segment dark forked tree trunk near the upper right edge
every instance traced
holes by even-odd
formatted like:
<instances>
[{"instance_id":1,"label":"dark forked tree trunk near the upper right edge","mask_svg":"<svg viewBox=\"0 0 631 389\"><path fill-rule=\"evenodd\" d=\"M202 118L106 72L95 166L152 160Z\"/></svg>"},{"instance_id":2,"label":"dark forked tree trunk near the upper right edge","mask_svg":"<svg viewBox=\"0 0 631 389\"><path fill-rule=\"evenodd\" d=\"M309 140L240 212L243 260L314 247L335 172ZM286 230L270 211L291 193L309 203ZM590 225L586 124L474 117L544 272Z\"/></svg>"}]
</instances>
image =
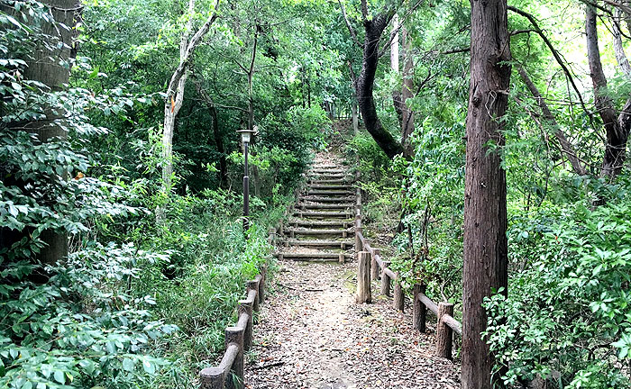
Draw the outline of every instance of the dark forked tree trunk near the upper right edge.
<instances>
[{"instance_id":1,"label":"dark forked tree trunk near the upper right edge","mask_svg":"<svg viewBox=\"0 0 631 389\"><path fill-rule=\"evenodd\" d=\"M607 78L600 62L599 37L596 28L596 11L586 5L585 32L587 36L587 57L590 63L591 83L594 89L594 104L602 119L607 135L605 156L602 160L600 176L613 180L622 170L626 158L626 140L629 135L631 119L629 113L623 110L617 113L613 101L607 93ZM627 101L625 109L631 104Z\"/></svg>"}]
</instances>

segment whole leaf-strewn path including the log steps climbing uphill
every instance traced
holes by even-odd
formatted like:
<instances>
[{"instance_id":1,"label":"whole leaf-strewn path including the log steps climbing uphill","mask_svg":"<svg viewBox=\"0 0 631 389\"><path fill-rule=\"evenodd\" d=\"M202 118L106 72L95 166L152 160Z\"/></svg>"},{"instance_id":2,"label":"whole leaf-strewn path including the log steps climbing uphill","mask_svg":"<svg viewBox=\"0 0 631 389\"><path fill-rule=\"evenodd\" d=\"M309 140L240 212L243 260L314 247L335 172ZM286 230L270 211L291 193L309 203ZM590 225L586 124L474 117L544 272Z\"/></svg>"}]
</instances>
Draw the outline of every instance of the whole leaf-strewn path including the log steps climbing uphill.
<instances>
[{"instance_id":1,"label":"whole leaf-strewn path including the log steps climbing uphill","mask_svg":"<svg viewBox=\"0 0 631 389\"><path fill-rule=\"evenodd\" d=\"M343 177L315 173L328 169L344 171L339 173ZM298 199L296 218L289 221L294 226L284 231L289 236L281 237L279 271L254 326L246 387L460 388L458 366L434 357L434 337L412 329L410 307L408 313L392 309L389 298L379 294L379 285L372 287L373 303L355 303L352 220L350 225L344 222L346 204L352 206L354 197L349 197L352 184L346 169L332 153L315 158L315 177ZM341 185L340 180L346 181ZM348 187L313 195L313 185L323 184ZM317 209L322 204L328 208Z\"/></svg>"}]
</instances>

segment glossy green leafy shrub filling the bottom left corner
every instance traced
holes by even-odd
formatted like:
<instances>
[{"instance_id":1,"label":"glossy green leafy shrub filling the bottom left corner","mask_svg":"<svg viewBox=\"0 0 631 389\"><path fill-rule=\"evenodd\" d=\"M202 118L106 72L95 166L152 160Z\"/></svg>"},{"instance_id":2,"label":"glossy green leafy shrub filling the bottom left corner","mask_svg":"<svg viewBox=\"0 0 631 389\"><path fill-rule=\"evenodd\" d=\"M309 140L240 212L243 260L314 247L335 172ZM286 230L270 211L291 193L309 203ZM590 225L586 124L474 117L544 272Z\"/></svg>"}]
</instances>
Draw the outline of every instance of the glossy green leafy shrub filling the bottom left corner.
<instances>
[{"instance_id":1,"label":"glossy green leafy shrub filling the bottom left corner","mask_svg":"<svg viewBox=\"0 0 631 389\"><path fill-rule=\"evenodd\" d=\"M0 295L0 384L24 387L136 387L151 384L166 360L148 352L177 327L155 319L149 296L126 287L140 267L168 261L132 245L99 244L45 270L43 285L5 267ZM16 281L19 280L19 281Z\"/></svg>"}]
</instances>

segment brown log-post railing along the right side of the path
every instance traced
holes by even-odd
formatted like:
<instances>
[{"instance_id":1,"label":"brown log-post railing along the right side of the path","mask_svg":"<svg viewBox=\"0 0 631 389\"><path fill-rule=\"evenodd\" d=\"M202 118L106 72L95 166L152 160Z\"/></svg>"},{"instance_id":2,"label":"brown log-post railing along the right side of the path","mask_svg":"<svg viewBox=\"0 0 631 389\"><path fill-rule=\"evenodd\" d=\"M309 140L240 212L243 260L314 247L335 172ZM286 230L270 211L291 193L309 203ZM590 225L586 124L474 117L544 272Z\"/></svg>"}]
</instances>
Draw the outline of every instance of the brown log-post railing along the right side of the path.
<instances>
[{"instance_id":1,"label":"brown log-post railing along the right side of the path","mask_svg":"<svg viewBox=\"0 0 631 389\"><path fill-rule=\"evenodd\" d=\"M359 183L359 172L356 174ZM390 296L390 286L394 284L393 307L401 312L405 306L405 293L398 273L389 268L390 262L381 258L380 249L370 246L361 232L361 188L356 189L355 204L355 252L358 259L358 303L370 302L370 280L381 280L381 294ZM368 276L370 273L370 276ZM434 313L436 321L436 355L452 358L453 332L462 337L462 324L453 318L453 303L434 303L425 295L425 285L416 284L412 294L413 327L425 332L427 310Z\"/></svg>"}]
</instances>

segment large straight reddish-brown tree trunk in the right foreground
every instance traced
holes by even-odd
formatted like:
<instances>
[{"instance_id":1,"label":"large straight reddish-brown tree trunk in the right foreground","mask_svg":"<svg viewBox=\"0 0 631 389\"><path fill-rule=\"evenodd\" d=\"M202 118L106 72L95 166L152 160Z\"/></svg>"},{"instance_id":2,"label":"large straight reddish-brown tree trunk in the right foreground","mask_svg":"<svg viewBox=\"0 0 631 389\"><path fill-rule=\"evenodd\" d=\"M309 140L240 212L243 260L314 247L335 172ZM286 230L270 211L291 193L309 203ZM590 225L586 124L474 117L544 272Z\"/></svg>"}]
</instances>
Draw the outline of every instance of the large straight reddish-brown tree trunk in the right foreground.
<instances>
[{"instance_id":1,"label":"large straight reddish-brown tree trunk in the right foreground","mask_svg":"<svg viewBox=\"0 0 631 389\"><path fill-rule=\"evenodd\" d=\"M471 85L466 130L462 388L491 389L493 357L481 338L492 290L508 286L506 172L493 143L504 146L510 47L506 0L471 2Z\"/></svg>"}]
</instances>

